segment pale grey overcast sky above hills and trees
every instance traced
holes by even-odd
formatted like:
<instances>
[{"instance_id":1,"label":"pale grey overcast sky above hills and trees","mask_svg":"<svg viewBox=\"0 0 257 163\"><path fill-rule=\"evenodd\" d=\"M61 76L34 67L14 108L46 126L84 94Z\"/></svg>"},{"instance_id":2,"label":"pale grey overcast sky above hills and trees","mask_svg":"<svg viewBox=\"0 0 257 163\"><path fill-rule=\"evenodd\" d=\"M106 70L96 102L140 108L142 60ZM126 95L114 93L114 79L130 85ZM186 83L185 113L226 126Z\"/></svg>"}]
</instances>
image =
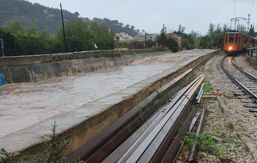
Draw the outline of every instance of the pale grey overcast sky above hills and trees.
<instances>
[{"instance_id":1,"label":"pale grey overcast sky above hills and trees","mask_svg":"<svg viewBox=\"0 0 257 163\"><path fill-rule=\"evenodd\" d=\"M148 33L160 32L163 23L172 26L182 24L186 32L198 30L205 34L212 23L225 23L230 25L230 19L235 17L233 0L29 0L45 6L62 7L72 13L79 12L81 17L108 18L135 26L140 31ZM257 27L257 0L235 0L236 17L248 18L251 11L250 23ZM60 7L58 7L60 8ZM241 20L241 23L245 21ZM246 23L245 23L246 24ZM177 30L177 27L167 26ZM247 26L247 24L246 24ZM257 31L257 28L255 28Z\"/></svg>"}]
</instances>

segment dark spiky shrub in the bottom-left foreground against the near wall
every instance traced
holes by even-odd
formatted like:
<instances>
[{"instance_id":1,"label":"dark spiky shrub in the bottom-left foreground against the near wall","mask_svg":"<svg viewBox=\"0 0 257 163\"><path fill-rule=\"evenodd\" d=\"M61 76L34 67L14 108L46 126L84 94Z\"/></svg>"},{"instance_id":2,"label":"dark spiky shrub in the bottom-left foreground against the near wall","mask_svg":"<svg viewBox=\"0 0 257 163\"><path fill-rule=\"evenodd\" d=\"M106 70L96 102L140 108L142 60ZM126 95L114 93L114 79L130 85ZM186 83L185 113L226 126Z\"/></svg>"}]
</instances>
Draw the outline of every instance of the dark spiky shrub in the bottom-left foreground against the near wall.
<instances>
[{"instance_id":1,"label":"dark spiky shrub in the bottom-left foreground against the near wall","mask_svg":"<svg viewBox=\"0 0 257 163\"><path fill-rule=\"evenodd\" d=\"M42 153L37 153L36 155L23 155L19 161L14 161L14 157L11 152L7 152L5 148L0 148L0 162L1 163L62 163L65 158L60 156L63 150L67 149L70 145L71 139L59 141L57 140L56 133L56 121L52 125L52 136L51 141L48 142L47 148ZM60 142L60 143L58 143ZM58 145L57 145L58 143ZM77 161L77 163L86 163L84 161Z\"/></svg>"}]
</instances>

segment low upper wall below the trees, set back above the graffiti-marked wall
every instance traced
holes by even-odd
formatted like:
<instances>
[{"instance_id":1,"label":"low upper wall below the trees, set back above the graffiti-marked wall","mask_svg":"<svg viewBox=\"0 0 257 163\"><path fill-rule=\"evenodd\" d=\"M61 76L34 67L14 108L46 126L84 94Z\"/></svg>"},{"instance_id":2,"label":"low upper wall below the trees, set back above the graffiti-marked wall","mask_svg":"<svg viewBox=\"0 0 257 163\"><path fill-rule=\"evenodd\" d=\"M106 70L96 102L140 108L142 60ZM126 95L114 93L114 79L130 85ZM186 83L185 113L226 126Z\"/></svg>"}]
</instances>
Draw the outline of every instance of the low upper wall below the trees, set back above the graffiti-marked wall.
<instances>
[{"instance_id":1,"label":"low upper wall below the trees, set back above the graffiti-marked wall","mask_svg":"<svg viewBox=\"0 0 257 163\"><path fill-rule=\"evenodd\" d=\"M29 55L29 56L14 56L14 57L0 57L1 67L22 66L39 63L51 63L67 60L78 60L87 58L99 58L101 55L127 55L127 53L133 52L135 54L152 53L157 52L157 49L135 49L135 50L96 50L96 51L84 51L74 53L59 53L59 54L45 54L45 55Z\"/></svg>"}]
</instances>

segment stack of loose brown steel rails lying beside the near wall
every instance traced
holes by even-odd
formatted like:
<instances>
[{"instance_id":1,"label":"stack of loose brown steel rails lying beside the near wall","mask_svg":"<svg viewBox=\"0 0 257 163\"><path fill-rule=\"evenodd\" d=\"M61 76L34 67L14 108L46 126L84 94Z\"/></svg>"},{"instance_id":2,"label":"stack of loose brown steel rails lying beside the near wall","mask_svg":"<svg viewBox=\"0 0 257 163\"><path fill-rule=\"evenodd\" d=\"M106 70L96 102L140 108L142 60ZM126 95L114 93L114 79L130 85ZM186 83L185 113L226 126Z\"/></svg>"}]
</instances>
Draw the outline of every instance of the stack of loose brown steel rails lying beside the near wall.
<instances>
[{"instance_id":1,"label":"stack of loose brown steel rails lying beside the near wall","mask_svg":"<svg viewBox=\"0 0 257 163\"><path fill-rule=\"evenodd\" d=\"M202 91L203 79L204 75L200 75L169 91L180 79L171 81L173 84L163 92L157 90L159 95L146 105L149 107L136 112L112 133L103 131L64 162L76 162L78 157L89 163L174 162L185 132L195 123L196 133L203 131L207 110L194 107L196 98L200 98L197 95ZM189 162L196 159L195 146L190 150Z\"/></svg>"}]
</instances>

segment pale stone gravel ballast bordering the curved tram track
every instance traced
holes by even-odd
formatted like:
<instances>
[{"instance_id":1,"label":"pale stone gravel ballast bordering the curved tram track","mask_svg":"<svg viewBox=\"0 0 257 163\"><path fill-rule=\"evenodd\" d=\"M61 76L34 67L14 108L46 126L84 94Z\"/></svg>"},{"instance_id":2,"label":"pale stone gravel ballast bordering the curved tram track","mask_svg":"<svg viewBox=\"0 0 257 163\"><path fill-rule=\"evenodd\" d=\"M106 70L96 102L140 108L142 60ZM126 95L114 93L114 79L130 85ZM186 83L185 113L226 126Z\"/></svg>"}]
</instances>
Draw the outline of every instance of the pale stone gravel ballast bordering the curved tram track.
<instances>
[{"instance_id":1,"label":"pale stone gravel ballast bordering the curved tram track","mask_svg":"<svg viewBox=\"0 0 257 163\"><path fill-rule=\"evenodd\" d=\"M256 162L256 117L243 106L242 99L233 96L232 90L237 86L221 69L224 57L224 54L214 56L194 74L204 74L205 81L212 85L209 92L217 97L203 99L202 107L208 109L204 131L212 136L219 150L207 148L199 153L198 159L199 162ZM234 61L252 75L257 74L244 55L235 57ZM180 155L178 162L183 162L183 158Z\"/></svg>"}]
</instances>

